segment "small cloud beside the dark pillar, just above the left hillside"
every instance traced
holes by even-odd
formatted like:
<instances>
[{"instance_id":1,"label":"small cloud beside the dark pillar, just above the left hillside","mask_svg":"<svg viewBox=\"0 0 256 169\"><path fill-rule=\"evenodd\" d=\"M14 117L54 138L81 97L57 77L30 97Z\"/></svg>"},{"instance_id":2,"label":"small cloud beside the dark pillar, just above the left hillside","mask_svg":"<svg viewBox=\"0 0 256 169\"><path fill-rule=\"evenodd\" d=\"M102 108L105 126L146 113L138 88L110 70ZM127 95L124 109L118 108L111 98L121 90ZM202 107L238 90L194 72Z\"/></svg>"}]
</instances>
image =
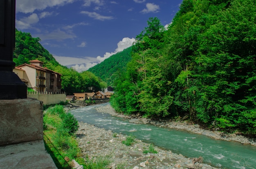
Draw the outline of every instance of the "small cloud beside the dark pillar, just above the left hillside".
<instances>
[{"instance_id":1,"label":"small cloud beside the dark pillar, just above the left hillside","mask_svg":"<svg viewBox=\"0 0 256 169\"><path fill-rule=\"evenodd\" d=\"M32 13L28 17L21 18L16 20L16 28L18 29L28 29L31 28L32 24L35 24L39 21L39 18L36 13Z\"/></svg>"}]
</instances>

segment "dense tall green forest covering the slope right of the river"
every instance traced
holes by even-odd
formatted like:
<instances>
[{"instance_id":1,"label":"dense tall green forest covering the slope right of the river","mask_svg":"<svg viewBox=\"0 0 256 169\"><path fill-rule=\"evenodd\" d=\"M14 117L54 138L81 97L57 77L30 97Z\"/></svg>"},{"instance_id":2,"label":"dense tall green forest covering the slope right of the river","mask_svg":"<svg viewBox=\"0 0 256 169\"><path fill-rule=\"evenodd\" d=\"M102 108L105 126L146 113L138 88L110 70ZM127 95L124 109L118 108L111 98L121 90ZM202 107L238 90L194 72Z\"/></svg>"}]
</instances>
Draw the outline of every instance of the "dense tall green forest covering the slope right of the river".
<instances>
[{"instance_id":1,"label":"dense tall green forest covering the slope right of the river","mask_svg":"<svg viewBox=\"0 0 256 169\"><path fill-rule=\"evenodd\" d=\"M149 18L112 106L256 134L255 13L255 0L183 0L168 29Z\"/></svg>"}]
</instances>

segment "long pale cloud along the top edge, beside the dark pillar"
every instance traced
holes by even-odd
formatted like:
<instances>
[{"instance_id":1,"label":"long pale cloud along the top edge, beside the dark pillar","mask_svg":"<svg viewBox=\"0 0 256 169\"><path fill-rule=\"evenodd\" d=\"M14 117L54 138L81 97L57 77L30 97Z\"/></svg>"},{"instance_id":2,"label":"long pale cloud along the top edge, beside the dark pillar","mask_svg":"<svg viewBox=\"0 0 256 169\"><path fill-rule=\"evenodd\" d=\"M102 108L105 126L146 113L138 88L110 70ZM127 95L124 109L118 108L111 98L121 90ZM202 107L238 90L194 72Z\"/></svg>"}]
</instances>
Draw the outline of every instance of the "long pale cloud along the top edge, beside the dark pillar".
<instances>
[{"instance_id":1,"label":"long pale cloud along the top edge, beside the dark pillar","mask_svg":"<svg viewBox=\"0 0 256 169\"><path fill-rule=\"evenodd\" d=\"M17 0L16 13L32 13L35 10L43 10L47 7L63 6L75 0Z\"/></svg>"}]
</instances>

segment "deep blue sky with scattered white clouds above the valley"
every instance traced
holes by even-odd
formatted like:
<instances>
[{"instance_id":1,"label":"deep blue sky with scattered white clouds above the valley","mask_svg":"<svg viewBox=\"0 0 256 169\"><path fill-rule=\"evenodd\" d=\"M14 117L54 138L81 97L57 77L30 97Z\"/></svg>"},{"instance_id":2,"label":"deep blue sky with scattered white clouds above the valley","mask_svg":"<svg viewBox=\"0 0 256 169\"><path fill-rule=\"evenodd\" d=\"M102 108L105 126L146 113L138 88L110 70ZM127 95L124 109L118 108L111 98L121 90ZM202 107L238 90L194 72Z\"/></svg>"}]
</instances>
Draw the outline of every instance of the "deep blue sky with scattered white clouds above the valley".
<instances>
[{"instance_id":1,"label":"deep blue sky with scattered white clouds above the valley","mask_svg":"<svg viewBox=\"0 0 256 169\"><path fill-rule=\"evenodd\" d=\"M85 71L132 45L150 17L170 24L182 0L16 0L16 28Z\"/></svg>"}]
</instances>

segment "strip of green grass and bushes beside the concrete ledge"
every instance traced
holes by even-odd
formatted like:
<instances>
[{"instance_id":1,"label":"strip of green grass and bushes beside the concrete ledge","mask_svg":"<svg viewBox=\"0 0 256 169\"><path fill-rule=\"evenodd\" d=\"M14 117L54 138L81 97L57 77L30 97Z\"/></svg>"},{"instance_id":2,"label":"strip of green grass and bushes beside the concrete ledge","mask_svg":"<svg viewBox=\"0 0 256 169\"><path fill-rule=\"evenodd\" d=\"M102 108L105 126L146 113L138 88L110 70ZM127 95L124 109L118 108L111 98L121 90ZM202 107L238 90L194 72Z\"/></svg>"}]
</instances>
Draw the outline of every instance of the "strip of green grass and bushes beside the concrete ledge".
<instances>
[{"instance_id":1,"label":"strip of green grass and bushes beside the concrete ledge","mask_svg":"<svg viewBox=\"0 0 256 169\"><path fill-rule=\"evenodd\" d=\"M65 113L62 105L49 107L44 113L45 147L58 168L71 168L64 160L66 156L75 160L81 157L81 150L72 134L72 129L77 130L78 127L75 125L77 121L74 120L70 113Z\"/></svg>"}]
</instances>

